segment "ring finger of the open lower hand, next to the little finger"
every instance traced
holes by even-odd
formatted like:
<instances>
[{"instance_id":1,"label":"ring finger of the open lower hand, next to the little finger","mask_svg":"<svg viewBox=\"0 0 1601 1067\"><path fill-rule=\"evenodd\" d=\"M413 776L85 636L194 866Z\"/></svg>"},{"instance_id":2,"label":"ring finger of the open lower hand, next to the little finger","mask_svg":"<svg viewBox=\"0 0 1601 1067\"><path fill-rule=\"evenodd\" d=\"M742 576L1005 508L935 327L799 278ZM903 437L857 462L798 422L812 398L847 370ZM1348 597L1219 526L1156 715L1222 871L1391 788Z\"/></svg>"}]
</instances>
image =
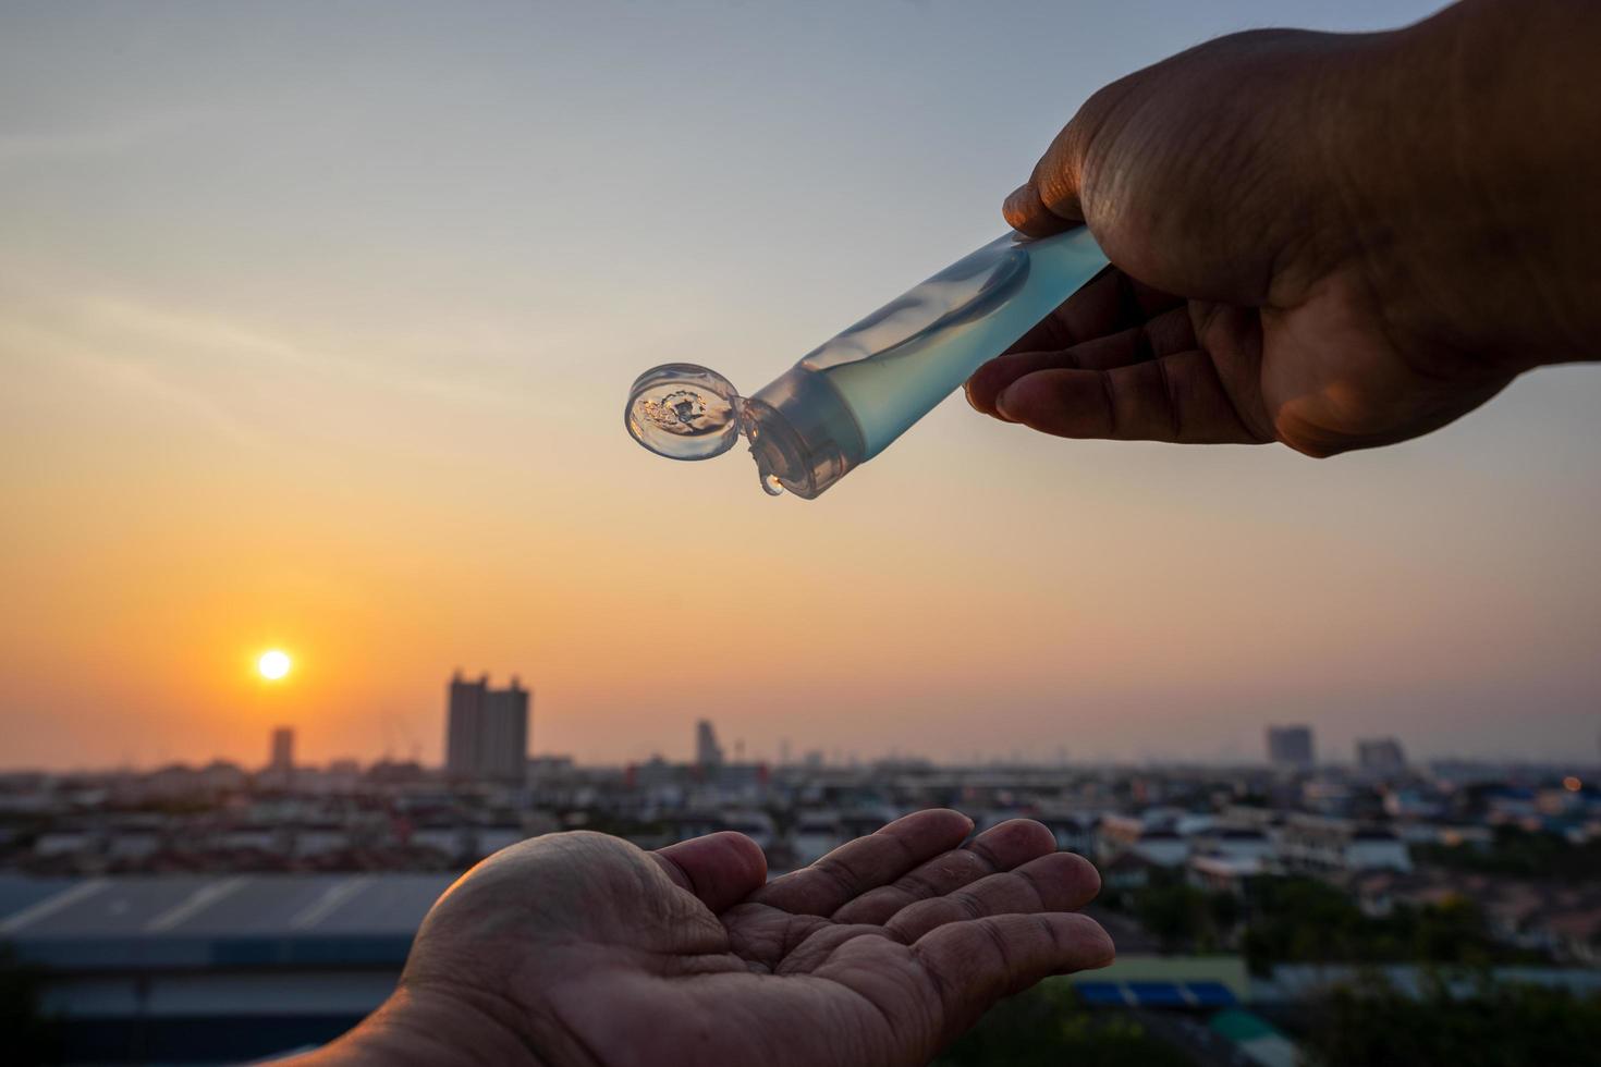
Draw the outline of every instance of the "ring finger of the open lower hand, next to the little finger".
<instances>
[{"instance_id":1,"label":"ring finger of the open lower hand, next to the little finger","mask_svg":"<svg viewBox=\"0 0 1601 1067\"><path fill-rule=\"evenodd\" d=\"M1100 875L1090 861L1073 853L1052 853L945 896L919 901L884 926L898 939L913 942L938 926L969 918L1076 912L1098 891Z\"/></svg>"}]
</instances>

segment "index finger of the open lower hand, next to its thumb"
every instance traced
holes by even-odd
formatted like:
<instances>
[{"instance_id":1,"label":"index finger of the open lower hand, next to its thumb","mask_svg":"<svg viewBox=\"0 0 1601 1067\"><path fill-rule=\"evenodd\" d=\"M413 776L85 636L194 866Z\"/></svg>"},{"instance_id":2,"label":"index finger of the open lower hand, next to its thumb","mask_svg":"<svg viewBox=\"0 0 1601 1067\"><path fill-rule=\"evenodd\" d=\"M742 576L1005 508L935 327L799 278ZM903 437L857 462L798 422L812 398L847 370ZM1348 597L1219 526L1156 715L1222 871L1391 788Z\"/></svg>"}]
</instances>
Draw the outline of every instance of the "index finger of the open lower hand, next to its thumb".
<instances>
[{"instance_id":1,"label":"index finger of the open lower hand, next to its thumb","mask_svg":"<svg viewBox=\"0 0 1601 1067\"><path fill-rule=\"evenodd\" d=\"M956 848L972 829L973 821L959 811L917 811L841 845L810 867L775 878L752 899L796 915L833 915L847 901Z\"/></svg>"}]
</instances>

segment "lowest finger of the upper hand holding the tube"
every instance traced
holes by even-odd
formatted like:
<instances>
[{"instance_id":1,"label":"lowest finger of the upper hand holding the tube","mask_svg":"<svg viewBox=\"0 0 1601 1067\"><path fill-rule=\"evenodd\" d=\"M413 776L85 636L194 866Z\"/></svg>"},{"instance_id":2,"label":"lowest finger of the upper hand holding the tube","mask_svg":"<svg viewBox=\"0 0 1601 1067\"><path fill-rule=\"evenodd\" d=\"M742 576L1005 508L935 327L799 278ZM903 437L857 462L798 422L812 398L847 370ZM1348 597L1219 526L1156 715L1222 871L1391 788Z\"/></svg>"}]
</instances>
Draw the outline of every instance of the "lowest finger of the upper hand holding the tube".
<instances>
[{"instance_id":1,"label":"lowest finger of the upper hand holding the tube","mask_svg":"<svg viewBox=\"0 0 1601 1067\"><path fill-rule=\"evenodd\" d=\"M1044 370L994 398L996 413L1057 437L1254 445L1212 358L1198 349L1111 370Z\"/></svg>"}]
</instances>

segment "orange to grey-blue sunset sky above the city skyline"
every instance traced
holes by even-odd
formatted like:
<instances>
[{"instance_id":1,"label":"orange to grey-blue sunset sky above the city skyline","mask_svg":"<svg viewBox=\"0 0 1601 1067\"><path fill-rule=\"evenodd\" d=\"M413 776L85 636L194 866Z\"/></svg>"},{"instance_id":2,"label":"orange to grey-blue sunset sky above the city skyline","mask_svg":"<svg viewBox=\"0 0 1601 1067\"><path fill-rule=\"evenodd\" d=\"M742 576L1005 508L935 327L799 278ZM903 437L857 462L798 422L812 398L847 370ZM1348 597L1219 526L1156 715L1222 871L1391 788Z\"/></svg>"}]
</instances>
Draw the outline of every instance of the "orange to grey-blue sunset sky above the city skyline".
<instances>
[{"instance_id":1,"label":"orange to grey-blue sunset sky above the city skyline","mask_svg":"<svg viewBox=\"0 0 1601 1067\"><path fill-rule=\"evenodd\" d=\"M1601 368L1324 462L953 398L813 502L623 430L997 235L1101 83L1433 6L6 5L0 765L432 761L456 667L581 760L1595 760Z\"/></svg>"}]
</instances>

